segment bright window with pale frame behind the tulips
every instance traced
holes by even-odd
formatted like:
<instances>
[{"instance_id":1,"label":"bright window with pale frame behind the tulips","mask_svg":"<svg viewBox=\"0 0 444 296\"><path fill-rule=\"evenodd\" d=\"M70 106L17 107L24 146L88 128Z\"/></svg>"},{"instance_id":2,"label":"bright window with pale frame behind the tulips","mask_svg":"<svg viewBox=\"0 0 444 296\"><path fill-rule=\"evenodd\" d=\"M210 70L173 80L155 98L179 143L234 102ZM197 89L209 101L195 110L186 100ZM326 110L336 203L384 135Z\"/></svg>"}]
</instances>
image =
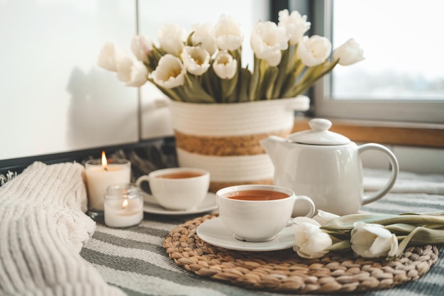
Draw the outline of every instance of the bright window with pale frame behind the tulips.
<instances>
[{"instance_id":1,"label":"bright window with pale frame behind the tulips","mask_svg":"<svg viewBox=\"0 0 444 296\"><path fill-rule=\"evenodd\" d=\"M316 84L315 115L444 123L440 1L315 1L311 34L333 48L355 38L366 60L335 67Z\"/></svg>"}]
</instances>

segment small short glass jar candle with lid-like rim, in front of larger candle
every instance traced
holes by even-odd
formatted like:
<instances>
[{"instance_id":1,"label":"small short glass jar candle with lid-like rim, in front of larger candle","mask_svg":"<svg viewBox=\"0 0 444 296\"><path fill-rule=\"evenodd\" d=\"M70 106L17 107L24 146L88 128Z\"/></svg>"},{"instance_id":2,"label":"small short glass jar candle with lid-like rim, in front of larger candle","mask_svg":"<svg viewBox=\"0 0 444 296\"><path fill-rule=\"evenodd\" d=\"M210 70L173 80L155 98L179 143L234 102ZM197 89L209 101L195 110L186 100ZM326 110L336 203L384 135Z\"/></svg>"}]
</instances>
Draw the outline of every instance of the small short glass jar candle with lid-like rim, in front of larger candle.
<instances>
[{"instance_id":1,"label":"small short glass jar candle with lid-like rim, in front of larger candle","mask_svg":"<svg viewBox=\"0 0 444 296\"><path fill-rule=\"evenodd\" d=\"M134 226L143 219L143 197L133 183L110 185L104 199L106 226L122 228Z\"/></svg>"}]
</instances>

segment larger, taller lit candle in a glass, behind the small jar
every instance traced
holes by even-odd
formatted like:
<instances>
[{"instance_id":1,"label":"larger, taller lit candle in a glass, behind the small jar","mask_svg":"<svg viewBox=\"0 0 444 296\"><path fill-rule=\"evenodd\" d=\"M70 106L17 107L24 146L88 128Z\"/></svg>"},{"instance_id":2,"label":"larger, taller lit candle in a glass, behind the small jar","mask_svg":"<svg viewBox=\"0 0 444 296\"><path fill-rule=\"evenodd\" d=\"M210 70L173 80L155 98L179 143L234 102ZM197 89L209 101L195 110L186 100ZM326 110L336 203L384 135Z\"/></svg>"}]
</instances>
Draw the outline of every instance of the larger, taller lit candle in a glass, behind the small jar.
<instances>
[{"instance_id":1,"label":"larger, taller lit candle in a glass, behind the small jar","mask_svg":"<svg viewBox=\"0 0 444 296\"><path fill-rule=\"evenodd\" d=\"M89 212L103 212L106 188L112 184L130 182L131 163L126 159L107 160L105 151L102 151L101 160L87 160L85 175Z\"/></svg>"}]
</instances>

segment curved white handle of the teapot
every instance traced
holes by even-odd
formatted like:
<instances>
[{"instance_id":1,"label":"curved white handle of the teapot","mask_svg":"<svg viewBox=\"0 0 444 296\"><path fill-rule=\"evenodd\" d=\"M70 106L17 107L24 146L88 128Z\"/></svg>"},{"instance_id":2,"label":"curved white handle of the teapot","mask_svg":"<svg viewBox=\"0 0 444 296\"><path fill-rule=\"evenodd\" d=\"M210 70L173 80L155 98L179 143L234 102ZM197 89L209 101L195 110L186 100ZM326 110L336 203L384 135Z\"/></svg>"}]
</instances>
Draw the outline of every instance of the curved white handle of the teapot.
<instances>
[{"instance_id":1,"label":"curved white handle of the teapot","mask_svg":"<svg viewBox=\"0 0 444 296\"><path fill-rule=\"evenodd\" d=\"M361 154L362 152L364 152L366 150L379 150L379 151L387 154L387 156L390 160L390 164L392 165L392 176L390 177L387 184L384 185L384 187L382 187L380 190L365 196L362 201L362 204L370 204L370 202L377 201L378 199L383 197L385 194L387 194L392 189L394 182L396 182L396 177L398 177L398 172L399 172L398 160L396 160L395 155L392 153L391 150L389 150L389 148L379 145L379 144L376 144L376 143L367 143L367 144L364 144L364 145L359 146L357 148L357 151L359 154Z\"/></svg>"}]
</instances>

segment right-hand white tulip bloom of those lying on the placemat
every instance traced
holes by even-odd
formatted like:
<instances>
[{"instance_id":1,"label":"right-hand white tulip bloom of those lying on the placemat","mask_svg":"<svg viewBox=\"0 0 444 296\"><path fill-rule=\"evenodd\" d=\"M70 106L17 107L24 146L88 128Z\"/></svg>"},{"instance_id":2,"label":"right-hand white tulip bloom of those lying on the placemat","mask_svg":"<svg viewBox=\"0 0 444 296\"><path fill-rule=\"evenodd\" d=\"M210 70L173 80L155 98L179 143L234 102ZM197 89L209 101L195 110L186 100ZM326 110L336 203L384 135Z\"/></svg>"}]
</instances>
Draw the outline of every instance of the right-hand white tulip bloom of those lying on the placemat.
<instances>
[{"instance_id":1,"label":"right-hand white tulip bloom of those lying on the placemat","mask_svg":"<svg viewBox=\"0 0 444 296\"><path fill-rule=\"evenodd\" d=\"M398 251L398 239L395 234L380 224L353 224L350 242L353 251L364 258L395 256Z\"/></svg>"}]
</instances>

